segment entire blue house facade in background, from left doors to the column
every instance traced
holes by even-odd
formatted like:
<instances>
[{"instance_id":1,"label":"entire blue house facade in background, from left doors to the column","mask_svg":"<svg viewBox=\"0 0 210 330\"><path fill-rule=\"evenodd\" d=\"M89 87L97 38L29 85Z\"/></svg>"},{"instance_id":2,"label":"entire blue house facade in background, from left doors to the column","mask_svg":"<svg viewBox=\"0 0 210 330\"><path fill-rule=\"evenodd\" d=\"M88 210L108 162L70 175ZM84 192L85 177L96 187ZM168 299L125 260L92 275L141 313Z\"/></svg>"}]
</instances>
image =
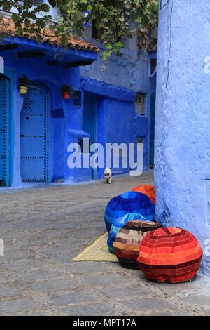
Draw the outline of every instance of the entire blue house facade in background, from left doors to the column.
<instances>
[{"instance_id":1,"label":"entire blue house facade in background, from left doors to the column","mask_svg":"<svg viewBox=\"0 0 210 330\"><path fill-rule=\"evenodd\" d=\"M87 137L83 128L83 98L84 93L90 93L97 101L96 136L102 143L135 143L137 136L144 136L144 169L148 169L149 146L149 110L151 94L155 90L155 76L150 76L150 58L156 53L142 53L137 58L137 45L130 51L124 49L123 58L113 56L105 72L102 72L102 54L92 65L73 67L66 70L66 62L90 58L95 60L96 53L90 51L56 50L52 46L39 45L36 41L15 38L20 46L13 51L1 51L5 67L13 74L13 169L11 185L22 185L20 174L20 112L23 96L18 89L18 77L26 74L36 83L45 84L50 90L50 176L49 181L64 179L66 182L90 180L91 169L69 169L67 160L70 143L77 143L78 138ZM10 42L10 41L8 41ZM132 41L134 42L134 41ZM95 41L97 43L97 41ZM98 43L99 44L99 43ZM43 58L19 58L18 52L29 49L45 51ZM54 56L57 66L49 66L46 60ZM27 65L26 65L27 62ZM60 95L63 84L72 84L73 89L82 91L82 105L73 106L73 100L64 100ZM135 113L135 93L146 93L146 113L139 116ZM55 112L54 112L55 110ZM62 115L54 115L61 110ZM105 154L104 154L105 159ZM104 161L105 168L105 161ZM130 171L130 167L113 169L113 173ZM104 169L94 171L94 178L102 178Z\"/></svg>"}]
</instances>

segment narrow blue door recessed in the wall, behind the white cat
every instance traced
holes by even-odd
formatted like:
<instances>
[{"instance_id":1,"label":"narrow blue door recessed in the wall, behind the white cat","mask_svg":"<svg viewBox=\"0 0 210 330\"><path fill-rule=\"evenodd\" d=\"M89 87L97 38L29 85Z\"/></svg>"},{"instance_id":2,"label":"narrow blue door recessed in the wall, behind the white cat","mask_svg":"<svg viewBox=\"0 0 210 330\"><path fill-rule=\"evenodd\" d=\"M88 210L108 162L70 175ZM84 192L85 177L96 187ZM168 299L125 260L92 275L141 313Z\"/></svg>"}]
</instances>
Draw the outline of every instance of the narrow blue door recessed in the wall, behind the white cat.
<instances>
[{"instance_id":1,"label":"narrow blue door recessed in the wall, behind the white cat","mask_svg":"<svg viewBox=\"0 0 210 330\"><path fill-rule=\"evenodd\" d=\"M94 95L84 95L83 107L83 131L90 134L90 145L96 142L96 98ZM90 154L92 156L92 154ZM92 179L96 176L96 171L92 169Z\"/></svg>"}]
</instances>

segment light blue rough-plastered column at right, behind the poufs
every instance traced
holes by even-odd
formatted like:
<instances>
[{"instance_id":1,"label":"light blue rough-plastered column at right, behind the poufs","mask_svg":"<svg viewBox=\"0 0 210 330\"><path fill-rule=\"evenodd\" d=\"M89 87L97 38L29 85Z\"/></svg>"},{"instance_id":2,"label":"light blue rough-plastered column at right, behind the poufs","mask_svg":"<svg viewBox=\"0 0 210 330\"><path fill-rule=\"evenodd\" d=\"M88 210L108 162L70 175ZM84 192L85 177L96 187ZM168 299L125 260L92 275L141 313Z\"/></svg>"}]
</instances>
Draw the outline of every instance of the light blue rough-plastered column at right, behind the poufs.
<instances>
[{"instance_id":1,"label":"light blue rough-plastered column at right, behind the poufs","mask_svg":"<svg viewBox=\"0 0 210 330\"><path fill-rule=\"evenodd\" d=\"M156 216L197 237L210 272L210 3L168 2L158 33Z\"/></svg>"}]
</instances>

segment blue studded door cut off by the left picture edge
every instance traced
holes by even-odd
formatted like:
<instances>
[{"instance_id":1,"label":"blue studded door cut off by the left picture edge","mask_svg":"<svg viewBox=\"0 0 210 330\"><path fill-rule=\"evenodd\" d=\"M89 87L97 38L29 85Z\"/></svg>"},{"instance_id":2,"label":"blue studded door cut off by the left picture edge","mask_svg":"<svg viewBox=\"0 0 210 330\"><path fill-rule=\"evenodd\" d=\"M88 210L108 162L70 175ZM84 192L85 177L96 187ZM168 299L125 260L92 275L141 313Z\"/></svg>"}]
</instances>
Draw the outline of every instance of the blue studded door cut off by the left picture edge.
<instances>
[{"instance_id":1,"label":"blue studded door cut off by the left picture edge","mask_svg":"<svg viewBox=\"0 0 210 330\"><path fill-rule=\"evenodd\" d=\"M10 185L10 79L0 75L0 186Z\"/></svg>"}]
</instances>

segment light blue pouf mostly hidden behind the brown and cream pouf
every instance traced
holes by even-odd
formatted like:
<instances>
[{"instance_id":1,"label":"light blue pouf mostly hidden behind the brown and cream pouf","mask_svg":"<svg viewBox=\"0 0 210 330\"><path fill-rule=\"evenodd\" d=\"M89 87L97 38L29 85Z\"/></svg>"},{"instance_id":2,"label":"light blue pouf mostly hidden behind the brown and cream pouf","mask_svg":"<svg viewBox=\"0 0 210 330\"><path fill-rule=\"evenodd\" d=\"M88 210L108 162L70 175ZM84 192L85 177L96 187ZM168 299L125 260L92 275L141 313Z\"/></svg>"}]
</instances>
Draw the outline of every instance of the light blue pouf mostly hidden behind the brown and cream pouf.
<instances>
[{"instance_id":1,"label":"light blue pouf mostly hidden behind the brown and cream pouf","mask_svg":"<svg viewBox=\"0 0 210 330\"><path fill-rule=\"evenodd\" d=\"M123 216L123 218L118 218L114 220L114 223L111 226L111 230L109 232L109 237L107 240L108 249L111 253L115 253L113 249L113 243L115 242L116 235L118 234L120 228L122 228L125 225L125 223L128 223L131 220L136 220L136 219L145 220L146 222L146 219L143 216L139 216L138 213L127 213L125 214L125 216Z\"/></svg>"}]
</instances>

